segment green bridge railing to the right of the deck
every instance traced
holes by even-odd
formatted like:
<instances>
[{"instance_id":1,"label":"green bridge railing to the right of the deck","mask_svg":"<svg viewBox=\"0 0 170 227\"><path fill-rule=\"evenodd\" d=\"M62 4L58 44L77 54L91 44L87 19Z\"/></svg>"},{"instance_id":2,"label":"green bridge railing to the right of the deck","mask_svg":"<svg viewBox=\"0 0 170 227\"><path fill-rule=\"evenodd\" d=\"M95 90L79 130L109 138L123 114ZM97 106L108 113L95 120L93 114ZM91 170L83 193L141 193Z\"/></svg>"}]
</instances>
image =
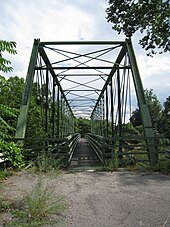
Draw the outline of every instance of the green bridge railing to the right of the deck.
<instances>
[{"instance_id":1,"label":"green bridge railing to the right of the deck","mask_svg":"<svg viewBox=\"0 0 170 227\"><path fill-rule=\"evenodd\" d=\"M132 162L150 163L150 152L148 152L149 149L144 136L106 138L88 133L86 138L102 164L114 158L124 164L131 164ZM170 158L170 138L155 137L154 145L158 160L165 161Z\"/></svg>"}]
</instances>

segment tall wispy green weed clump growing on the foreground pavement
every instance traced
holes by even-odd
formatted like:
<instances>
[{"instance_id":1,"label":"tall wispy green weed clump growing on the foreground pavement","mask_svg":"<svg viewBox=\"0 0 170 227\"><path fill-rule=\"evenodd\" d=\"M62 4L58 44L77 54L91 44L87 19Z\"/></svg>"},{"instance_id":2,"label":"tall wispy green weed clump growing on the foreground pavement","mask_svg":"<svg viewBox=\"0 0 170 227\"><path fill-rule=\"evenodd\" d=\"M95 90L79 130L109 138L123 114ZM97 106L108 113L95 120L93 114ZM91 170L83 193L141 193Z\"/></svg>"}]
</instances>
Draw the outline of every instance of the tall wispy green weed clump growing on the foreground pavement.
<instances>
[{"instance_id":1,"label":"tall wispy green weed clump growing on the foreground pavement","mask_svg":"<svg viewBox=\"0 0 170 227\"><path fill-rule=\"evenodd\" d=\"M66 200L58 196L53 189L44 185L41 179L33 189L13 209L14 221L8 226L57 226L61 222L61 213L67 209ZM51 226L50 225L50 226Z\"/></svg>"}]
</instances>

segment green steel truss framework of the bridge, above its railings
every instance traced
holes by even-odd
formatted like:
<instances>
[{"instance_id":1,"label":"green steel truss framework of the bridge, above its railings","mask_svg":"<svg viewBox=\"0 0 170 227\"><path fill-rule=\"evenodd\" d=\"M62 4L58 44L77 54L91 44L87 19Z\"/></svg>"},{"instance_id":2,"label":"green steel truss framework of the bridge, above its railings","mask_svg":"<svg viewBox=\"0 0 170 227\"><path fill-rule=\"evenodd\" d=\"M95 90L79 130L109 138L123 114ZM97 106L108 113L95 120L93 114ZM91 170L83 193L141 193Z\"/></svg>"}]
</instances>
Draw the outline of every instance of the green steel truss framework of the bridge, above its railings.
<instances>
[{"instance_id":1,"label":"green steel truss framework of the bridge, above its railings","mask_svg":"<svg viewBox=\"0 0 170 227\"><path fill-rule=\"evenodd\" d=\"M123 127L132 112L131 84L141 113L148 157L155 163L154 132L130 40L34 40L16 138L26 137L31 94L36 87L46 137L66 137L74 133L75 117L91 118L91 133L113 141L118 136L121 153Z\"/></svg>"}]
</instances>

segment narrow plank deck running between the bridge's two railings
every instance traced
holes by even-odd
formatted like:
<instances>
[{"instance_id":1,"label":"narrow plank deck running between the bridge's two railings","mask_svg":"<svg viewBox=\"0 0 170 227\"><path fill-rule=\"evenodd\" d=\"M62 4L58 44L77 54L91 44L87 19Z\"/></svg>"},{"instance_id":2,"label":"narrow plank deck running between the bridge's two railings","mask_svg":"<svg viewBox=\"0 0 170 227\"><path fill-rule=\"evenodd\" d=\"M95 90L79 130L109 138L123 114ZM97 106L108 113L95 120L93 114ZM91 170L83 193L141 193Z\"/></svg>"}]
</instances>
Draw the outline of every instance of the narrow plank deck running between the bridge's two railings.
<instances>
[{"instance_id":1,"label":"narrow plank deck running between the bridge's two railings","mask_svg":"<svg viewBox=\"0 0 170 227\"><path fill-rule=\"evenodd\" d=\"M70 167L89 167L97 166L100 162L88 144L87 139L81 138L74 151Z\"/></svg>"}]
</instances>

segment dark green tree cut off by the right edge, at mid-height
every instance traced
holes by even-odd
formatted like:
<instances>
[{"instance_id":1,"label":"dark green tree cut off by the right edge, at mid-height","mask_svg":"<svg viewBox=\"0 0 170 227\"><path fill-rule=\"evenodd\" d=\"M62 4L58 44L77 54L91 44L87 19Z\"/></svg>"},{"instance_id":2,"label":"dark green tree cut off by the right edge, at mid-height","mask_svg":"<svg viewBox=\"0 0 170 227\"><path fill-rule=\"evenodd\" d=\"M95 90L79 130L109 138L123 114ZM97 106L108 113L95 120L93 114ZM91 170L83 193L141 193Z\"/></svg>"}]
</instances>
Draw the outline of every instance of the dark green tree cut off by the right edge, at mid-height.
<instances>
[{"instance_id":1,"label":"dark green tree cut off by the right edge, at mid-height","mask_svg":"<svg viewBox=\"0 0 170 227\"><path fill-rule=\"evenodd\" d=\"M163 105L160 130L167 137L170 137L170 96L166 99Z\"/></svg>"}]
</instances>

